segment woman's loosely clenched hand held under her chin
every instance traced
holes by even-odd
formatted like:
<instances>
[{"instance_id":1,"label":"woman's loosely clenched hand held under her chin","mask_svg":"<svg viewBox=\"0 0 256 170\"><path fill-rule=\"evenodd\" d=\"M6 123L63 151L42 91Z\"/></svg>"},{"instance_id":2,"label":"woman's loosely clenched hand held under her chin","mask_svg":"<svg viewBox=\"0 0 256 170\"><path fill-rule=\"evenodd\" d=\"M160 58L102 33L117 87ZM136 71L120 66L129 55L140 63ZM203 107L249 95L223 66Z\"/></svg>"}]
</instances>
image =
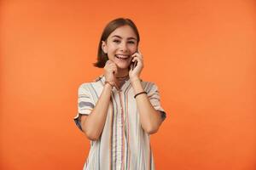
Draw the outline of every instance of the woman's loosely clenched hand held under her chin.
<instances>
[{"instance_id":1,"label":"woman's loosely clenched hand held under her chin","mask_svg":"<svg viewBox=\"0 0 256 170\"><path fill-rule=\"evenodd\" d=\"M111 83L116 83L115 75L117 74L117 66L113 63L112 60L108 59L104 66L104 70L105 80Z\"/></svg>"}]
</instances>

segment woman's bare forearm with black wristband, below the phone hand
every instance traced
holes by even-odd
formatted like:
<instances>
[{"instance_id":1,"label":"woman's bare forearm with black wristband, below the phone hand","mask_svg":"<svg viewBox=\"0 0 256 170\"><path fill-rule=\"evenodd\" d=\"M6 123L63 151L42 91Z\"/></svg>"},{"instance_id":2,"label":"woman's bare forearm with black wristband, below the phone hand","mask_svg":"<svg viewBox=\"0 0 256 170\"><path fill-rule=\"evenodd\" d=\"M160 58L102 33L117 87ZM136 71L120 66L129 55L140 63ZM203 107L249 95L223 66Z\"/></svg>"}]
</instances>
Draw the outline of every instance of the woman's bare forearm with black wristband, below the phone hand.
<instances>
[{"instance_id":1,"label":"woman's bare forearm with black wristband, below the phone hand","mask_svg":"<svg viewBox=\"0 0 256 170\"><path fill-rule=\"evenodd\" d=\"M134 89L134 94L144 91L140 79L132 80L131 84ZM147 94L137 95L136 101L143 129L149 134L156 133L163 122L160 111L156 111L154 109L153 105L151 105L148 99Z\"/></svg>"}]
</instances>

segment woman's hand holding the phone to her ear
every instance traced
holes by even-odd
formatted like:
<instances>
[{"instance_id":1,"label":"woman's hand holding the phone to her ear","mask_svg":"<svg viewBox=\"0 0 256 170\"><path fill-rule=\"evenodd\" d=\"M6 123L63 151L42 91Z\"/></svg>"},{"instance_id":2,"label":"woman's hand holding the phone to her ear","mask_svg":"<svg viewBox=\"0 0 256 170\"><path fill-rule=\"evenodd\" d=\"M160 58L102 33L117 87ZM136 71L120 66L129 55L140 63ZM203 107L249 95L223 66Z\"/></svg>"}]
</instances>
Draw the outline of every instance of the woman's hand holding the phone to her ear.
<instances>
[{"instance_id":1,"label":"woman's hand holding the phone to her ear","mask_svg":"<svg viewBox=\"0 0 256 170\"><path fill-rule=\"evenodd\" d=\"M130 65L129 77L132 80L136 80L140 78L140 74L143 71L143 55L138 50L137 53L131 55L131 62L137 61L136 67L132 70Z\"/></svg>"}]
</instances>

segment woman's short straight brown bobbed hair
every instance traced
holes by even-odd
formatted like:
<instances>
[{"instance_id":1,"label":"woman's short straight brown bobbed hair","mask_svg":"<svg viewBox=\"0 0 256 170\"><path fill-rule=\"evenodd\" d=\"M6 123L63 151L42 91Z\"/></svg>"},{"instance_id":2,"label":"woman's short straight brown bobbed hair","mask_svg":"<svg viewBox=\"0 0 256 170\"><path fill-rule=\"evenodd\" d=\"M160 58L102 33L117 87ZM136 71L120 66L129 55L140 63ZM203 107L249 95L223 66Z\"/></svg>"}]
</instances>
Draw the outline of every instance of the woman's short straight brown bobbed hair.
<instances>
[{"instance_id":1,"label":"woman's short straight brown bobbed hair","mask_svg":"<svg viewBox=\"0 0 256 170\"><path fill-rule=\"evenodd\" d=\"M137 35L137 45L140 42L140 36L137 31L137 26L135 26L134 22L130 19L125 18L118 18L115 20L112 20L108 23L108 25L104 28L102 32L102 37L99 42L98 46L98 54L97 54L97 61L93 65L99 68L103 68L108 60L108 54L105 54L102 50L102 41L106 41L108 39L108 36L117 28L120 26L131 26L132 30Z\"/></svg>"}]
</instances>

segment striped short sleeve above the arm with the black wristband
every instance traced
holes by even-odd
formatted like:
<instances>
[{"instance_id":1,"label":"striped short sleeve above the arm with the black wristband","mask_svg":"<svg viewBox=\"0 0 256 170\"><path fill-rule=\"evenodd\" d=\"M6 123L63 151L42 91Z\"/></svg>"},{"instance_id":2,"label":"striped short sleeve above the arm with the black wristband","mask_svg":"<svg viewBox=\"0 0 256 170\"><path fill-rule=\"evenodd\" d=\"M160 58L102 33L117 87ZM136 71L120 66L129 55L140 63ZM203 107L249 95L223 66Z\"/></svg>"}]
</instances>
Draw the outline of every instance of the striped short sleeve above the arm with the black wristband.
<instances>
[{"instance_id":1,"label":"striped short sleeve above the arm with the black wristband","mask_svg":"<svg viewBox=\"0 0 256 170\"><path fill-rule=\"evenodd\" d=\"M160 111L162 119L165 120L166 111L160 105L160 92L158 87L153 82L150 82L148 88L148 98L151 105L153 105L156 111Z\"/></svg>"}]
</instances>

